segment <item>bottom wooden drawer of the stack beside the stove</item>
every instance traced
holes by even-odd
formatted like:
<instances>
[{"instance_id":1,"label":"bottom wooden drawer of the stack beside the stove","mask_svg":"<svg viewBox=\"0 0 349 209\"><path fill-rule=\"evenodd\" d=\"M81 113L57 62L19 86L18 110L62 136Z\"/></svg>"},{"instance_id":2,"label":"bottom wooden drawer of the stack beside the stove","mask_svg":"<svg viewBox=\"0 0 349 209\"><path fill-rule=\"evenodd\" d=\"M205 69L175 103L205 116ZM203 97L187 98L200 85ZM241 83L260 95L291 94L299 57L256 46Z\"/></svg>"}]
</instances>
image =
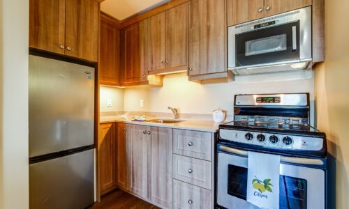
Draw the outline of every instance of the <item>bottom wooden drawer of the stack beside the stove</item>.
<instances>
[{"instance_id":1,"label":"bottom wooden drawer of the stack beside the stove","mask_svg":"<svg viewBox=\"0 0 349 209\"><path fill-rule=\"evenodd\" d=\"M173 180L173 208L211 208L211 191Z\"/></svg>"}]
</instances>

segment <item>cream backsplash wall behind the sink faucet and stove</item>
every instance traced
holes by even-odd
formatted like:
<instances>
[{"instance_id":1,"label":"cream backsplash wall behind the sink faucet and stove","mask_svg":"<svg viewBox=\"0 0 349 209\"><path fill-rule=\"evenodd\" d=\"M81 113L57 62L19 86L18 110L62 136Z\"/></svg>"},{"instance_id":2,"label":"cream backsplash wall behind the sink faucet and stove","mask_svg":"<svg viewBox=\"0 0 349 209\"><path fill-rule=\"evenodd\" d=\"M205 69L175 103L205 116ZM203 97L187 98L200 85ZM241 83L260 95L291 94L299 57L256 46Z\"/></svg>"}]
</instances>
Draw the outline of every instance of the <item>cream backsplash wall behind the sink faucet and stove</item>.
<instances>
[{"instance_id":1,"label":"cream backsplash wall behind the sink faucet and stove","mask_svg":"<svg viewBox=\"0 0 349 209\"><path fill-rule=\"evenodd\" d=\"M305 72L304 72L305 73ZM314 80L299 73L253 75L237 78L232 84L198 84L189 82L186 74L166 75L163 87L126 88L124 97L125 111L170 112L168 106L176 107L181 113L211 114L221 107L232 114L234 95L239 93L297 93L309 92L314 98ZM297 77L295 77L297 75ZM290 79L290 77L295 79ZM266 79L269 77L269 79ZM249 79L246 79L249 78ZM281 81L281 78L283 81ZM247 82L247 81L250 82ZM144 100L144 108L140 107Z\"/></svg>"}]
</instances>

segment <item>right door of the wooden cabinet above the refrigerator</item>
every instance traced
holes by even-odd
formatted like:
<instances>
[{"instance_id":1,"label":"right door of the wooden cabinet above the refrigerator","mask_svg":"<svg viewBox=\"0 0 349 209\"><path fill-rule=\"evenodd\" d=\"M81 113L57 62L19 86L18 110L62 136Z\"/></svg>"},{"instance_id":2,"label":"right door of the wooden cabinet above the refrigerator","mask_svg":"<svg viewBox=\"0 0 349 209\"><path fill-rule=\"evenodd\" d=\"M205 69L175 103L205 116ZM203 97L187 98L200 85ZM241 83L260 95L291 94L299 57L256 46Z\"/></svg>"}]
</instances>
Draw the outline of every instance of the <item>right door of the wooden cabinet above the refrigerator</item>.
<instances>
[{"instance_id":1,"label":"right door of the wooden cabinet above the refrigerator","mask_svg":"<svg viewBox=\"0 0 349 209\"><path fill-rule=\"evenodd\" d=\"M66 1L66 52L87 61L98 61L99 3Z\"/></svg>"}]
</instances>

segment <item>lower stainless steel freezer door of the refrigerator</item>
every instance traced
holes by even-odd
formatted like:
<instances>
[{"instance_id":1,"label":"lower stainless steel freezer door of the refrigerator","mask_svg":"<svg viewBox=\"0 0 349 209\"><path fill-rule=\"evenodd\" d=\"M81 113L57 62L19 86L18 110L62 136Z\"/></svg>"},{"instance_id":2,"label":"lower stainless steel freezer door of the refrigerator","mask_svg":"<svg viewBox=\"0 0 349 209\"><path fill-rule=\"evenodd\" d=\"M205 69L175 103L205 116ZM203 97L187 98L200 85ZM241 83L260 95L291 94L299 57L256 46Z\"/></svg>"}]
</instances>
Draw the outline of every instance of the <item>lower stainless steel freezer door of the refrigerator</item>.
<instances>
[{"instance_id":1,"label":"lower stainless steel freezer door of the refrigerator","mask_svg":"<svg viewBox=\"0 0 349 209\"><path fill-rule=\"evenodd\" d=\"M86 208L94 203L94 149L29 164L30 208Z\"/></svg>"}]
</instances>

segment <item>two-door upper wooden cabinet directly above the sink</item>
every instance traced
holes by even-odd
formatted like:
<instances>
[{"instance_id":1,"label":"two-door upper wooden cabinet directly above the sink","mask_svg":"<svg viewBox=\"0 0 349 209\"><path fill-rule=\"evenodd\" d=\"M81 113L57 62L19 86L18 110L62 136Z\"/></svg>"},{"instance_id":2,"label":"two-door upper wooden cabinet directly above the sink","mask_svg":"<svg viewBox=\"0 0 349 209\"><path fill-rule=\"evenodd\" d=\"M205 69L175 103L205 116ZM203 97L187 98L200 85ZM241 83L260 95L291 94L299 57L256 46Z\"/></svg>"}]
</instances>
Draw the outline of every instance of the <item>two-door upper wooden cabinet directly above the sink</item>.
<instances>
[{"instance_id":1,"label":"two-door upper wooden cabinet directly above the sink","mask_svg":"<svg viewBox=\"0 0 349 209\"><path fill-rule=\"evenodd\" d=\"M188 69L188 3L148 18L149 74Z\"/></svg>"}]
</instances>

